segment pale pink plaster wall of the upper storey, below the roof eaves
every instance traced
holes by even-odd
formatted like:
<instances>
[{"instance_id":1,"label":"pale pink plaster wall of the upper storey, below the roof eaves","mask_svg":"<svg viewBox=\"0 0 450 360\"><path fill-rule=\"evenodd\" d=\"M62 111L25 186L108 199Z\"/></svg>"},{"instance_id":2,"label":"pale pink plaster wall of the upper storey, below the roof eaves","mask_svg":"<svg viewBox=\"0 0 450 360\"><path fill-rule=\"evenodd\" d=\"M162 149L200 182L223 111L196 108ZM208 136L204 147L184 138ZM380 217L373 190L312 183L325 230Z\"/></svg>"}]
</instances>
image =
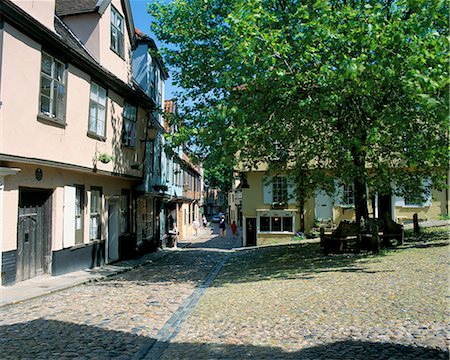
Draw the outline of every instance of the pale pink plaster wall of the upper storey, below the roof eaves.
<instances>
[{"instance_id":1,"label":"pale pink plaster wall of the upper storey, below the roof eaves","mask_svg":"<svg viewBox=\"0 0 450 360\"><path fill-rule=\"evenodd\" d=\"M124 99L108 92L106 141L87 136L91 78L69 64L67 71L66 126L58 127L38 121L40 86L40 45L5 24L2 59L2 132L0 152L39 158L92 168L96 154L105 152L116 159L109 164L97 162L99 170L140 176L129 164L142 159L143 146L121 147ZM146 122L139 111L138 131ZM137 153L138 154L137 154Z\"/></svg>"}]
</instances>

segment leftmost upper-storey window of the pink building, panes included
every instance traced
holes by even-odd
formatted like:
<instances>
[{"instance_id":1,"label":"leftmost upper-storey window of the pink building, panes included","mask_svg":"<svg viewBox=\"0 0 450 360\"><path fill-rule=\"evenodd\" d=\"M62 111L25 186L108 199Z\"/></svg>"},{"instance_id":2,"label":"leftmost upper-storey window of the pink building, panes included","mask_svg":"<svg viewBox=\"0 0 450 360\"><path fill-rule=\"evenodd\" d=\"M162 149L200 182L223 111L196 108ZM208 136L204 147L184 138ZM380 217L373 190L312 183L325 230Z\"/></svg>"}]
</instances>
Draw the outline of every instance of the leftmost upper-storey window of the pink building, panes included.
<instances>
[{"instance_id":1,"label":"leftmost upper-storey window of the pink building, panes included","mask_svg":"<svg viewBox=\"0 0 450 360\"><path fill-rule=\"evenodd\" d=\"M39 113L64 122L66 111L66 66L42 53Z\"/></svg>"}]
</instances>

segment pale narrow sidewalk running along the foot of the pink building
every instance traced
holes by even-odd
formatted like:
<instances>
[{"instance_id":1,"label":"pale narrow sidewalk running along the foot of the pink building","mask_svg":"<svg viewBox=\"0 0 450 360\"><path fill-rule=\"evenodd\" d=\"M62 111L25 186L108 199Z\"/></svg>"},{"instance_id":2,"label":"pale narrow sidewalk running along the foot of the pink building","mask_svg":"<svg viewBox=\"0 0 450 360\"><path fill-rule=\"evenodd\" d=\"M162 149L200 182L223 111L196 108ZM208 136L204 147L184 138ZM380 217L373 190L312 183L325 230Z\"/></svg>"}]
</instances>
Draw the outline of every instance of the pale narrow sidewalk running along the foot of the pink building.
<instances>
[{"instance_id":1,"label":"pale narrow sidewalk running along the foot of the pink building","mask_svg":"<svg viewBox=\"0 0 450 360\"><path fill-rule=\"evenodd\" d=\"M190 238L188 238L178 243L178 248L185 248L190 244ZM31 300L91 281L99 281L147 265L173 253L174 250L172 249L158 249L158 251L145 254L138 259L118 261L94 269L75 271L60 276L43 275L21 281L13 286L2 286L0 287L0 307Z\"/></svg>"}]
</instances>

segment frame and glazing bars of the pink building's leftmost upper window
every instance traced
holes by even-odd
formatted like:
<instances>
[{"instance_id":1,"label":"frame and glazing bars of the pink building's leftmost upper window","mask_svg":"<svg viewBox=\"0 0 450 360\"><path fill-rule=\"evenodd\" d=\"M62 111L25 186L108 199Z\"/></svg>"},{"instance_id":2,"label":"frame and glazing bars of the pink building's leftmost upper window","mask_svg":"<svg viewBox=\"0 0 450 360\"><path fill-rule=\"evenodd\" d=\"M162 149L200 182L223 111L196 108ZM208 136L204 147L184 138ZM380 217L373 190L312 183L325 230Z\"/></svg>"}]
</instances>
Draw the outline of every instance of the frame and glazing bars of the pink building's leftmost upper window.
<instances>
[{"instance_id":1,"label":"frame and glazing bars of the pink building's leftmost upper window","mask_svg":"<svg viewBox=\"0 0 450 360\"><path fill-rule=\"evenodd\" d=\"M51 74L47 74L46 72L43 71L43 60L44 60L44 56L48 57L51 59L51 69L50 72ZM61 81L58 80L58 77L56 75L56 63L59 63L62 67L62 76L61 76ZM62 125L65 126L66 125L66 110L67 110L67 63L63 62L61 60L59 60L58 58L50 55L48 52L45 51L41 51L41 65L40 65L40 74L39 74L39 109L38 109L38 119L39 120L44 120L44 121L48 121L48 122L52 122L58 125ZM42 86L43 86L43 78L46 78L47 80L50 80L50 94L49 96L47 96L46 94L42 93ZM61 84L63 87L63 92L61 97L59 97L58 99L62 99L62 104L60 105L60 107L58 108L54 108L54 106L58 106L58 103L56 103L55 105L55 101L57 102L57 100L55 100L55 82L57 84ZM49 110L47 113L42 111L42 98L46 97L49 99ZM61 110L62 112L62 116L58 116L58 110ZM54 112L54 113L53 113Z\"/></svg>"}]
</instances>

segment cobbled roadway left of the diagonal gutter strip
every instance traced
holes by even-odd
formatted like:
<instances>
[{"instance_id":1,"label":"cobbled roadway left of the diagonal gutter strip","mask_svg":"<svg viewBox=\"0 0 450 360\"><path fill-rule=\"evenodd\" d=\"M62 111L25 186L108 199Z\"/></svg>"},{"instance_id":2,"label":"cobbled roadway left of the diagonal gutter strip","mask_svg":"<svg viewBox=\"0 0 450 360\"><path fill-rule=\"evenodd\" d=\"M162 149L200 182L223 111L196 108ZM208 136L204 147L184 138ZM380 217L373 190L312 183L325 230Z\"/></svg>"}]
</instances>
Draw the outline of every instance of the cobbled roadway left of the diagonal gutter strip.
<instances>
[{"instance_id":1,"label":"cobbled roadway left of the diagonal gutter strip","mask_svg":"<svg viewBox=\"0 0 450 360\"><path fill-rule=\"evenodd\" d=\"M214 234L204 233L197 247ZM226 239L215 245L230 247ZM183 249L153 264L0 311L1 359L132 359L224 252Z\"/></svg>"}]
</instances>

